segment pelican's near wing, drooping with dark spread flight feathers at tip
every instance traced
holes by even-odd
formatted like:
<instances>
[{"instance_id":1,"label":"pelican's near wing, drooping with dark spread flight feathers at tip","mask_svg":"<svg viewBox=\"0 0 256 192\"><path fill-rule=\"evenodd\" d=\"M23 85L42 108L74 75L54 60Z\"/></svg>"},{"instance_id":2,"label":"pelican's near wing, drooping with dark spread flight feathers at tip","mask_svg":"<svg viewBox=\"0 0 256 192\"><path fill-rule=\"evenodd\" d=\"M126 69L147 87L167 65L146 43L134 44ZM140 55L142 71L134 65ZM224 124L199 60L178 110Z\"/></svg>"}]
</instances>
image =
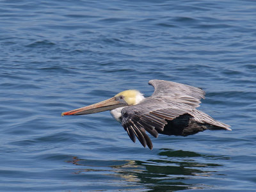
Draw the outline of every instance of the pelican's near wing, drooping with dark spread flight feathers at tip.
<instances>
[{"instance_id":1,"label":"pelican's near wing, drooping with dark spread flight feathers at tip","mask_svg":"<svg viewBox=\"0 0 256 192\"><path fill-rule=\"evenodd\" d=\"M157 131L163 131L166 120L173 120L192 109L186 104L148 97L140 104L122 109L122 126L133 142L138 138L143 147L152 149L153 145L146 131L157 138Z\"/></svg>"}]
</instances>

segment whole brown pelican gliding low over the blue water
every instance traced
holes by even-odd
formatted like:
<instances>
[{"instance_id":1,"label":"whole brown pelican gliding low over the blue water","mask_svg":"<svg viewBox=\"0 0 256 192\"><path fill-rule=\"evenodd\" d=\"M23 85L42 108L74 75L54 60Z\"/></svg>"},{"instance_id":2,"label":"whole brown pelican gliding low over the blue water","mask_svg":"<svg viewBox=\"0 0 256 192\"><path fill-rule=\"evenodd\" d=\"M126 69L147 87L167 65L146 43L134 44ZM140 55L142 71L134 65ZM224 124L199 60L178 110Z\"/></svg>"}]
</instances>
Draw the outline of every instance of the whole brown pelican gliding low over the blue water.
<instances>
[{"instance_id":1,"label":"whole brown pelican gliding low over the blue water","mask_svg":"<svg viewBox=\"0 0 256 192\"><path fill-rule=\"evenodd\" d=\"M157 138L158 134L188 136L197 132L225 129L230 126L211 118L196 109L205 92L194 86L172 81L150 80L154 93L143 97L137 90L120 92L111 99L63 115L86 115L110 110L111 115L122 124L133 142L136 138L143 147L152 149L147 132Z\"/></svg>"}]
</instances>

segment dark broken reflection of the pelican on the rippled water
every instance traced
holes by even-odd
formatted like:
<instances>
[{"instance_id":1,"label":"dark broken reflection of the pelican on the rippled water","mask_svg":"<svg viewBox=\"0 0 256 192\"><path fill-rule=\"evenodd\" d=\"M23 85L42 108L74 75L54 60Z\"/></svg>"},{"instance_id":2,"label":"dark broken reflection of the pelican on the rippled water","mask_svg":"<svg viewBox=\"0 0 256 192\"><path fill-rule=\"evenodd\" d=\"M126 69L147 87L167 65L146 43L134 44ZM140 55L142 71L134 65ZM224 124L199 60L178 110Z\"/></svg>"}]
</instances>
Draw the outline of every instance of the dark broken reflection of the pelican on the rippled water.
<instances>
[{"instance_id":1,"label":"dark broken reflection of the pelican on the rippled water","mask_svg":"<svg viewBox=\"0 0 256 192\"><path fill-rule=\"evenodd\" d=\"M166 148L161 149L157 157L145 162L86 160L73 157L67 162L85 167L76 169L74 174L97 172L99 175L114 177L116 182L125 182L127 189L129 187L131 190L140 188L143 191L179 191L214 187L202 184L200 179L218 175L218 167L222 165L214 161L228 159ZM212 163L205 163L211 160ZM113 178L111 180L113 181Z\"/></svg>"}]
</instances>

